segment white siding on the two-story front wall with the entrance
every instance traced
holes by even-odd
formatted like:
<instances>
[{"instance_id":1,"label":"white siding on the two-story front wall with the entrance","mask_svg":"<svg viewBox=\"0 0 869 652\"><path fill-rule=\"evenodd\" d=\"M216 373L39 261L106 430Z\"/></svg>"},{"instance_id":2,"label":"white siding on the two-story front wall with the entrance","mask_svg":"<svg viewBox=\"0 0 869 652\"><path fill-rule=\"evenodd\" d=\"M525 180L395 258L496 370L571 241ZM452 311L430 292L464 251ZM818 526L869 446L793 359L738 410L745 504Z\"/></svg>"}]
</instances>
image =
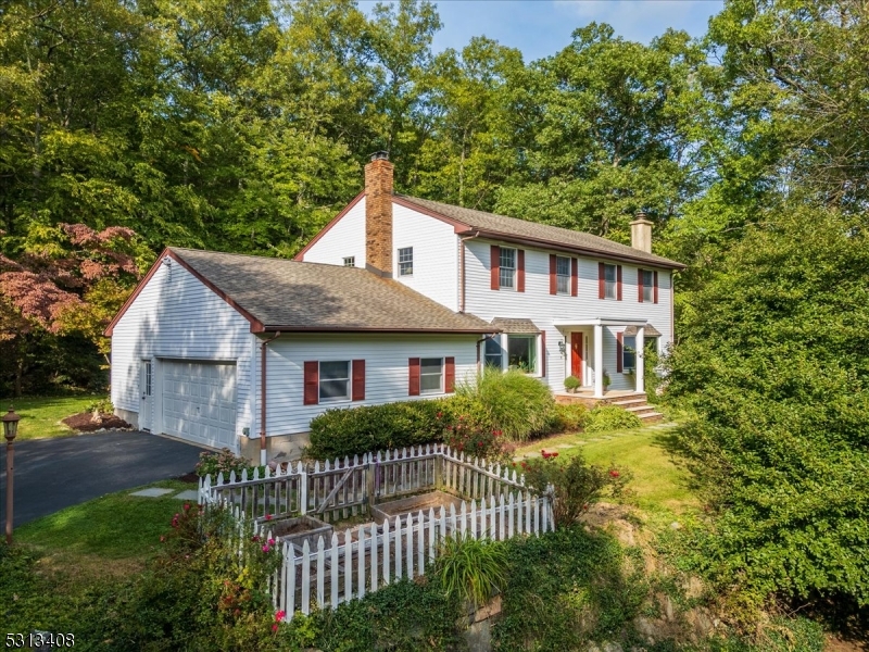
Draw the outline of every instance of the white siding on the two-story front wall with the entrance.
<instances>
[{"instance_id":1,"label":"white siding on the two-story front wall with the entrance","mask_svg":"<svg viewBox=\"0 0 869 652\"><path fill-rule=\"evenodd\" d=\"M570 294L550 294L550 254L543 249L526 249L525 252L525 292L490 291L490 248L498 241L475 238L466 240L465 247L465 310L466 312L491 321L494 317L513 317L531 319L541 330L546 331L546 350L538 351L538 369L541 368L541 356L546 356L545 381L556 390L564 389L564 378L570 375L570 329L556 328L555 322L570 319L584 321L595 318L632 318L648 319L662 333L660 347L672 341L670 329L670 273L658 272L658 303L640 303L638 301L601 301L597 299L597 265L602 261L596 258L581 256L578 260L577 297ZM637 269L639 265L619 263L622 266L622 293L625 297L637 297ZM577 328L591 336L593 328ZM612 389L632 389L634 379L626 374L616 373L616 334L624 327L605 326L603 328L604 367L613 380ZM558 350L558 342L567 339L565 355ZM540 340L538 340L540 341ZM591 337L590 337L591 343ZM488 349L487 349L488 350ZM593 365L593 347L589 347L584 358L585 364ZM492 351L494 353L494 351ZM494 355L487 361L494 361ZM591 366L589 367L591 368Z\"/></svg>"}]
</instances>

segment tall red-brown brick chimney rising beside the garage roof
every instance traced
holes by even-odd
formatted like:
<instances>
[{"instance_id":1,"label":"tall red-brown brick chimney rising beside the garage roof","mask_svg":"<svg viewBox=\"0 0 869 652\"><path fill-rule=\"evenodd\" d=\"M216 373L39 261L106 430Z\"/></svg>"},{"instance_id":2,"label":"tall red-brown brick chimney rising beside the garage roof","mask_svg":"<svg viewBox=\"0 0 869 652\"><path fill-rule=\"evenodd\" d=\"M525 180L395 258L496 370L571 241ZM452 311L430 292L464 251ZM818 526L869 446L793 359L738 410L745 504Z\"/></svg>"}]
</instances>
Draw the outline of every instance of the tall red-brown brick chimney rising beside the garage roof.
<instances>
[{"instance_id":1,"label":"tall red-brown brick chimney rising beside the garage roof","mask_svg":"<svg viewBox=\"0 0 869 652\"><path fill-rule=\"evenodd\" d=\"M365 166L365 268L392 277L392 163L375 152Z\"/></svg>"}]
</instances>

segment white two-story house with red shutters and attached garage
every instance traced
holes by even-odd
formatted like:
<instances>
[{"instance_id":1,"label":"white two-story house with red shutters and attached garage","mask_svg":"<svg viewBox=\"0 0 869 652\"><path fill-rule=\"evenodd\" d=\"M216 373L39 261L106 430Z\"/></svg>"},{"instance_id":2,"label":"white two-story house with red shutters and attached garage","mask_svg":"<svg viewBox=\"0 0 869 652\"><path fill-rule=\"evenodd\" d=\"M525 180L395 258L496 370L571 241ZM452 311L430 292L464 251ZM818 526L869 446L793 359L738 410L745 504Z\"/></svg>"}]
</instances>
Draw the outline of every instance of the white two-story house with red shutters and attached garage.
<instances>
[{"instance_id":1,"label":"white two-story house with red shutters and attached garage","mask_svg":"<svg viewBox=\"0 0 869 652\"><path fill-rule=\"evenodd\" d=\"M642 392L682 265L651 253L651 223L632 228L627 247L395 195L378 154L295 261L166 249L106 329L112 401L139 428L264 461L329 408L444 396L483 364Z\"/></svg>"}]
</instances>

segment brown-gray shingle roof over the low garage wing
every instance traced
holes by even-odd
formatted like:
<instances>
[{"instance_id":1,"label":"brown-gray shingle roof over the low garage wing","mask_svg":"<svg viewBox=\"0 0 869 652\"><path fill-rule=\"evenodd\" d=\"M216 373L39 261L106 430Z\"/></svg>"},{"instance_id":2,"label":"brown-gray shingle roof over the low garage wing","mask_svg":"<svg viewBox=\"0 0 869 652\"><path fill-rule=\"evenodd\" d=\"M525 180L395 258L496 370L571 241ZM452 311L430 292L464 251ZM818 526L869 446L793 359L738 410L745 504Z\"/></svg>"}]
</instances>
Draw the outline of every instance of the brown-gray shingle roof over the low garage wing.
<instances>
[{"instance_id":1,"label":"brown-gray shingle roof over the low garage wing","mask_svg":"<svg viewBox=\"0 0 869 652\"><path fill-rule=\"evenodd\" d=\"M496 330L362 268L175 247L169 251L265 330Z\"/></svg>"}]
</instances>

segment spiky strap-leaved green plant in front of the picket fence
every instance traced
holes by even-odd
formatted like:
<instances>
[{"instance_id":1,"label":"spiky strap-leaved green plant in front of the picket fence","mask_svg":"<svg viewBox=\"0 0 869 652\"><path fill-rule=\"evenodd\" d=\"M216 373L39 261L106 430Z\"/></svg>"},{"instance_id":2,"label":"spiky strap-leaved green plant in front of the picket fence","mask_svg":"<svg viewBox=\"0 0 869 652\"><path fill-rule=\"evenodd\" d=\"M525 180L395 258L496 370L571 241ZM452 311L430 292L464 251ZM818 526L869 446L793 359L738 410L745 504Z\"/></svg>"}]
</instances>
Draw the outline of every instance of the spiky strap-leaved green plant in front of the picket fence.
<instances>
[{"instance_id":1,"label":"spiky strap-leaved green plant in front of the picket fence","mask_svg":"<svg viewBox=\"0 0 869 652\"><path fill-rule=\"evenodd\" d=\"M448 597L479 607L504 586L506 561L501 543L457 534L441 540L434 573Z\"/></svg>"}]
</instances>

